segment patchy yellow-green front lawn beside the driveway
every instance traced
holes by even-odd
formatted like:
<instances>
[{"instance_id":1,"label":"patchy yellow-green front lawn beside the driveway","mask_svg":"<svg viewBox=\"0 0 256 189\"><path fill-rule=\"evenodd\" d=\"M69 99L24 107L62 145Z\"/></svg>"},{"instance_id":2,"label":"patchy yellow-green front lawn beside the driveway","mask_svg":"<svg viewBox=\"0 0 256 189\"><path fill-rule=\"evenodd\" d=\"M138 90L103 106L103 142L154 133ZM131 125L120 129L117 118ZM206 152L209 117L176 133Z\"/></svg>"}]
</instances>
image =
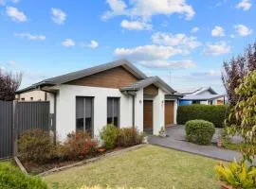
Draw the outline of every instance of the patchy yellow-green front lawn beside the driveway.
<instances>
[{"instance_id":1,"label":"patchy yellow-green front lawn beside the driveway","mask_svg":"<svg viewBox=\"0 0 256 189\"><path fill-rule=\"evenodd\" d=\"M57 184L62 189L76 189L82 185L217 189L216 164L217 161L209 158L158 146L145 146L46 176L45 180L50 187L57 188Z\"/></svg>"}]
</instances>

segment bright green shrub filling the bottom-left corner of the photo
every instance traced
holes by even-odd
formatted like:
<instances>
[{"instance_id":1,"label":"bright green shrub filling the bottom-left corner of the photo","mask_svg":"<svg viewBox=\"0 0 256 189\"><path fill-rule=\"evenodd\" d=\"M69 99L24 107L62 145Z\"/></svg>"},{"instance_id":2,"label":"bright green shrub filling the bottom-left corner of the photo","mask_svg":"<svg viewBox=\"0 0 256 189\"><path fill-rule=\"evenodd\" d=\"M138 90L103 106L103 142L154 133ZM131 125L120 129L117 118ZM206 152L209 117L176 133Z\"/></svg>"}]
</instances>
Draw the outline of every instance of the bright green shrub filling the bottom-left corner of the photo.
<instances>
[{"instance_id":1,"label":"bright green shrub filling the bottom-left corner of the photo","mask_svg":"<svg viewBox=\"0 0 256 189\"><path fill-rule=\"evenodd\" d=\"M47 189L40 178L27 176L10 163L0 163L0 188Z\"/></svg>"}]
</instances>

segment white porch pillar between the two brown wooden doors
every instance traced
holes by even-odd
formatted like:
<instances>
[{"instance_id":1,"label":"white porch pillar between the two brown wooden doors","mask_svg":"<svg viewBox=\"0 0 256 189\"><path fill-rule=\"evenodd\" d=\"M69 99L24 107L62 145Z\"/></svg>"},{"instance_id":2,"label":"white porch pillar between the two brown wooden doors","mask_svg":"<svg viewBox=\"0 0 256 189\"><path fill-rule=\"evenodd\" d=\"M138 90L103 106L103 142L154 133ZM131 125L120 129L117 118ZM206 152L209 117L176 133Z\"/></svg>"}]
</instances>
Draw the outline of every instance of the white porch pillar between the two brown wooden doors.
<instances>
[{"instance_id":1,"label":"white porch pillar between the two brown wooden doors","mask_svg":"<svg viewBox=\"0 0 256 189\"><path fill-rule=\"evenodd\" d=\"M153 134L154 135L158 135L159 130L162 127L165 128L164 101L165 101L165 93L161 89L158 89L158 95L155 96L153 101Z\"/></svg>"}]
</instances>

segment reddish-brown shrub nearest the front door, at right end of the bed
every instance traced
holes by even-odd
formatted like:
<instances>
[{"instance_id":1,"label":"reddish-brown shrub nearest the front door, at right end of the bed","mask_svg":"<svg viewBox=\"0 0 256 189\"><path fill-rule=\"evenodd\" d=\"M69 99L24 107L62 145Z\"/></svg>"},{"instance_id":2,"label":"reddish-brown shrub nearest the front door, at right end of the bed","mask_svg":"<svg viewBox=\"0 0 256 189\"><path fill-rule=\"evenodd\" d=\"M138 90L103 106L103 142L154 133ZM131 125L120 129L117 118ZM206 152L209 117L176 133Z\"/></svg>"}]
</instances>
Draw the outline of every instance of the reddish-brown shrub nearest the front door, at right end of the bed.
<instances>
[{"instance_id":1,"label":"reddish-brown shrub nearest the front door, at right end of the bed","mask_svg":"<svg viewBox=\"0 0 256 189\"><path fill-rule=\"evenodd\" d=\"M119 129L118 146L128 147L141 144L143 141L143 134L139 133L134 128Z\"/></svg>"}]
</instances>

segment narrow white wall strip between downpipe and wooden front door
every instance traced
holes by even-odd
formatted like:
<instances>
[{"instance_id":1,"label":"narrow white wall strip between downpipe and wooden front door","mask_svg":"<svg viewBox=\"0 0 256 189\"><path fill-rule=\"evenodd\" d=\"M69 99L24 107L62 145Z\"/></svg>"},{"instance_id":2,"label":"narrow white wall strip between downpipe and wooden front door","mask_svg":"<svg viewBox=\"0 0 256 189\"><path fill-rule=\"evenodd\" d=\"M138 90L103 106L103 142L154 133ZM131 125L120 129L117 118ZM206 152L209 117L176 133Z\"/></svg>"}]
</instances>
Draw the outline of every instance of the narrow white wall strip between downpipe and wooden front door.
<instances>
[{"instance_id":1,"label":"narrow white wall strip between downpipe and wooden front door","mask_svg":"<svg viewBox=\"0 0 256 189\"><path fill-rule=\"evenodd\" d=\"M141 89L135 97L135 125L139 131L143 131L143 121L143 89Z\"/></svg>"}]
</instances>

